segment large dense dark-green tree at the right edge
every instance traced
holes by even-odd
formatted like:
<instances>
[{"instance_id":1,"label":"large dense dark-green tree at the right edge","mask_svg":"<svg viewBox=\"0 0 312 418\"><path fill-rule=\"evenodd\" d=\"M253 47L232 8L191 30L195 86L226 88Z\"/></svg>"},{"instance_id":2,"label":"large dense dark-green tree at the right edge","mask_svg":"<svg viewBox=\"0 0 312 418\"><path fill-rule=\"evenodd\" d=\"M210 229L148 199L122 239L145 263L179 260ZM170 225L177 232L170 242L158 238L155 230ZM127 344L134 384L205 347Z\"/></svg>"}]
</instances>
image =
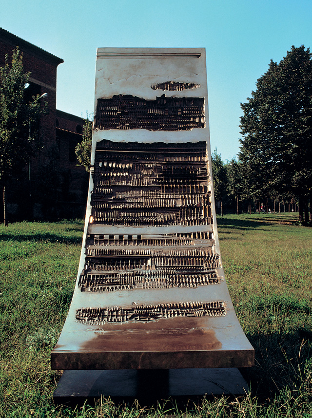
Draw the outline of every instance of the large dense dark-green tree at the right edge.
<instances>
[{"instance_id":1,"label":"large dense dark-green tree at the right edge","mask_svg":"<svg viewBox=\"0 0 312 418\"><path fill-rule=\"evenodd\" d=\"M251 193L296 196L303 221L304 202L312 187L310 49L292 46L279 64L271 60L247 100L241 104L239 158Z\"/></svg>"}]
</instances>

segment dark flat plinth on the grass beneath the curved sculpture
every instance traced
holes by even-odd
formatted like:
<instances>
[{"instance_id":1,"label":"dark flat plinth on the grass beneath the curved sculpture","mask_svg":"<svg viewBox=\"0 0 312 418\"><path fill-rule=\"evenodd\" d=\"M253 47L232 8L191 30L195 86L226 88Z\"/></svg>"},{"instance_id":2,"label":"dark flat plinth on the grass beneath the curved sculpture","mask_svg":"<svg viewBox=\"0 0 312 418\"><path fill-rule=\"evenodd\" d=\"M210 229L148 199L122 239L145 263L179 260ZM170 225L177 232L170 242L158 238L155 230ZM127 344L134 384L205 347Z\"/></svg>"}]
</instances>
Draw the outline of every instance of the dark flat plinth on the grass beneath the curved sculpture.
<instances>
[{"instance_id":1,"label":"dark flat plinth on the grass beneath the curved sculpture","mask_svg":"<svg viewBox=\"0 0 312 418\"><path fill-rule=\"evenodd\" d=\"M238 369L65 370L53 397L168 399L171 396L244 395Z\"/></svg>"}]
</instances>

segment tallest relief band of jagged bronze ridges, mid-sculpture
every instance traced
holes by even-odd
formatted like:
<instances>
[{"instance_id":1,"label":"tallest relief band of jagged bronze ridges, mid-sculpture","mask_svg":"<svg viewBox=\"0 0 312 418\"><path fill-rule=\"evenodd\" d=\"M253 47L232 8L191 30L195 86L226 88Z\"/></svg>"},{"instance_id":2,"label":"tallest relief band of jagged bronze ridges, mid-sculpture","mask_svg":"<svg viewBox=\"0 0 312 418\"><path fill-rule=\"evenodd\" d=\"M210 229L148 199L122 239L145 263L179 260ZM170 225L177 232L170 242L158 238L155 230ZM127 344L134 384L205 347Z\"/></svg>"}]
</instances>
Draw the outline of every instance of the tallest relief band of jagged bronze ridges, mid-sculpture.
<instances>
[{"instance_id":1,"label":"tallest relief band of jagged bronze ridges, mid-sculpture","mask_svg":"<svg viewBox=\"0 0 312 418\"><path fill-rule=\"evenodd\" d=\"M94 223L209 225L206 143L98 144L91 198Z\"/></svg>"}]
</instances>

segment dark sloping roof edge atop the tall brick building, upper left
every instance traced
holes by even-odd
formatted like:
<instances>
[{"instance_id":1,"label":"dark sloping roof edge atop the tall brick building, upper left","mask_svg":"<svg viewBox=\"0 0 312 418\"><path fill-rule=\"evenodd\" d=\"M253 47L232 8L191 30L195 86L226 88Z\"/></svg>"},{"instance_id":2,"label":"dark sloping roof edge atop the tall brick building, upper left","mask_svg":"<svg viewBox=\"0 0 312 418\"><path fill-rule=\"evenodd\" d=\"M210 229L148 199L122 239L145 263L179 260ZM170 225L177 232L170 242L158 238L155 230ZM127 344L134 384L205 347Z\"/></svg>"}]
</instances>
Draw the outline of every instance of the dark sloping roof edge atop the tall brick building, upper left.
<instances>
[{"instance_id":1,"label":"dark sloping roof edge atop the tall brick building, upper left","mask_svg":"<svg viewBox=\"0 0 312 418\"><path fill-rule=\"evenodd\" d=\"M45 61L49 62L50 64L54 64L55 66L58 66L59 64L64 62L62 58L56 57L55 55L50 54L44 49L39 48L39 46L36 46L28 42L27 40L19 38L18 36L13 35L2 28L0 28L0 39L7 43L10 43L13 47L18 46L22 52L27 52L40 59L44 59Z\"/></svg>"}]
</instances>

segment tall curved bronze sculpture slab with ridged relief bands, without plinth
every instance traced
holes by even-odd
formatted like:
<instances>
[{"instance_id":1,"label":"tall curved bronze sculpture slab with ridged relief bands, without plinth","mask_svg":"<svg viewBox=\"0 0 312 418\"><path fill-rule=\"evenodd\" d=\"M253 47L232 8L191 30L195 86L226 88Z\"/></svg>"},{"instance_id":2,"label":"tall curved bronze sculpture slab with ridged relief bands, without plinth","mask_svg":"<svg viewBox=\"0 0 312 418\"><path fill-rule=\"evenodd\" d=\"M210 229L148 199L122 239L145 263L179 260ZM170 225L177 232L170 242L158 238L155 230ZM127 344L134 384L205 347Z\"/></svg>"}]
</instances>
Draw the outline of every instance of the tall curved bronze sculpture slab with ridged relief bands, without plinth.
<instances>
[{"instance_id":1,"label":"tall curved bronze sculpture slab with ridged relief bands, without plinth","mask_svg":"<svg viewBox=\"0 0 312 418\"><path fill-rule=\"evenodd\" d=\"M98 49L91 165L52 367L251 366L219 255L204 49Z\"/></svg>"}]
</instances>

